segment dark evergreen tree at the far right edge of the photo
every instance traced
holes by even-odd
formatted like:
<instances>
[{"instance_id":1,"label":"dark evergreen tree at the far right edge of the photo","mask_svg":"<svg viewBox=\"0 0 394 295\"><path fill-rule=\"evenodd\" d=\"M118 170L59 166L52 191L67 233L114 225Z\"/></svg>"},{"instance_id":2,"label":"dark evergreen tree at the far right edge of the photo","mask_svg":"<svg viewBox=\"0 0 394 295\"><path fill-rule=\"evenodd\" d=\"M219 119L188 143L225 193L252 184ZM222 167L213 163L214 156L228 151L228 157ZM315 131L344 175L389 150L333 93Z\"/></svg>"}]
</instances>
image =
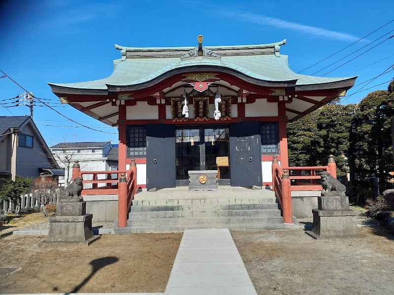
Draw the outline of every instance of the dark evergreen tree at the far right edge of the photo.
<instances>
[{"instance_id":1,"label":"dark evergreen tree at the far right edge of the photo","mask_svg":"<svg viewBox=\"0 0 394 295\"><path fill-rule=\"evenodd\" d=\"M349 155L354 167L354 185L365 186L369 177L378 177L380 190L386 189L393 171L390 121L394 115L393 82L389 90L369 93L359 104L353 118Z\"/></svg>"}]
</instances>

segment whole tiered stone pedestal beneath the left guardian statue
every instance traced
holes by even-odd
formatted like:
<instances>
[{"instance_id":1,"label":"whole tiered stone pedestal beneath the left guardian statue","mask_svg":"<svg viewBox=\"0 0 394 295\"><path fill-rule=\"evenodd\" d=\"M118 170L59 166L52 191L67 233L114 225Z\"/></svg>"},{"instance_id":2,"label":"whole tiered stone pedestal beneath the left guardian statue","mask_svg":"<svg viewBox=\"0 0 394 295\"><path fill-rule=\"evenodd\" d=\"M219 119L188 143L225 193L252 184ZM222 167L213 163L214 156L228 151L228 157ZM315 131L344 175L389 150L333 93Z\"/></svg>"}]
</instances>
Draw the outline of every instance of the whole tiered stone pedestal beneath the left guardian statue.
<instances>
[{"instance_id":1,"label":"whole tiered stone pedestal beneath the left guardian statue","mask_svg":"<svg viewBox=\"0 0 394 295\"><path fill-rule=\"evenodd\" d=\"M86 214L86 202L58 202L56 216L49 217L49 233L39 247L88 246L100 236L92 231L93 214Z\"/></svg>"}]
</instances>

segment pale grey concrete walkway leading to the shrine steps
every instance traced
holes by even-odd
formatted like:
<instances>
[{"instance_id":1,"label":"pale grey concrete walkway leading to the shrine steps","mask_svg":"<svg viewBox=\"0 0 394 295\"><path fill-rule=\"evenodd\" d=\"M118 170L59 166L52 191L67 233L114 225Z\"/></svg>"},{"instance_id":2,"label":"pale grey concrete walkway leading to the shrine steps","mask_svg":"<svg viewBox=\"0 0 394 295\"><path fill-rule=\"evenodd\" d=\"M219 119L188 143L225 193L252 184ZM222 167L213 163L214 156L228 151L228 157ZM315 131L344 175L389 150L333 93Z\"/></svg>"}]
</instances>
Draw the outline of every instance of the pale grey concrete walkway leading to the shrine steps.
<instances>
[{"instance_id":1,"label":"pale grey concrete walkway leading to the shrine steps","mask_svg":"<svg viewBox=\"0 0 394 295\"><path fill-rule=\"evenodd\" d=\"M167 295L257 295L228 229L185 230Z\"/></svg>"}]
</instances>

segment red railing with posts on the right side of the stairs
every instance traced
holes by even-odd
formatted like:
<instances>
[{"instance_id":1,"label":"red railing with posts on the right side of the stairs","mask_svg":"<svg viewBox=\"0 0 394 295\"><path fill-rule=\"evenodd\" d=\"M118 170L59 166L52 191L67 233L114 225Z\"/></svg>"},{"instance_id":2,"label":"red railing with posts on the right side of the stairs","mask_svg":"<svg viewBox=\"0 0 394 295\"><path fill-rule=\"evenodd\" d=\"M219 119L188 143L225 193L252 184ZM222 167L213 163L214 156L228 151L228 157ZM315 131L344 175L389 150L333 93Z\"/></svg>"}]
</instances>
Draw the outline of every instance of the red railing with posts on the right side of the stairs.
<instances>
[{"instance_id":1,"label":"red railing with posts on the right side of the stairs","mask_svg":"<svg viewBox=\"0 0 394 295\"><path fill-rule=\"evenodd\" d=\"M272 189L283 212L283 222L293 223L292 191L321 191L319 171L327 171L336 178L336 164L333 155L328 156L327 166L280 167L276 156L272 160Z\"/></svg>"}]
</instances>

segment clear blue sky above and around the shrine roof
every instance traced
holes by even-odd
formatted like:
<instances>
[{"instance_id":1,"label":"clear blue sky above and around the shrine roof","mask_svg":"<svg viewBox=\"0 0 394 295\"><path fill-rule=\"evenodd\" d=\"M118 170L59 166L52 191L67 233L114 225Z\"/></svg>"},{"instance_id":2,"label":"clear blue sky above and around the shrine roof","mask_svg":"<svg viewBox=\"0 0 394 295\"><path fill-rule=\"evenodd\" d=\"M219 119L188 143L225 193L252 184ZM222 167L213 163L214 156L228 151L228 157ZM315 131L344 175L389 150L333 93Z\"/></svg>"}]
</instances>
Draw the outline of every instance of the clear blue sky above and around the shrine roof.
<instances>
[{"instance_id":1,"label":"clear blue sky above and around the shrine roof","mask_svg":"<svg viewBox=\"0 0 394 295\"><path fill-rule=\"evenodd\" d=\"M199 34L204 36L204 46L287 39L281 54L289 55L290 68L299 72L389 23L394 19L393 11L392 0L343 0L340 4L316 0L1 1L0 69L36 97L48 99L45 102L61 114L103 131L69 127L78 125L38 104L34 107L34 122L49 145L62 142L65 137L117 143L116 128L60 105L46 83L83 82L109 76L112 60L121 57L114 44L197 46ZM393 34L394 22L301 73L327 74L325 77L358 75L356 85L361 84L386 69L393 70L394 38L387 40ZM349 61L358 55L361 56ZM330 65L333 62L336 63ZM387 89L387 81L393 77L394 71L368 85L366 82L354 87L343 103L357 103L370 91ZM352 94L362 86L367 90ZM26 106L4 108L13 105L10 102L15 100L11 98L23 92L10 79L0 79L0 116L30 114Z\"/></svg>"}]
</instances>

